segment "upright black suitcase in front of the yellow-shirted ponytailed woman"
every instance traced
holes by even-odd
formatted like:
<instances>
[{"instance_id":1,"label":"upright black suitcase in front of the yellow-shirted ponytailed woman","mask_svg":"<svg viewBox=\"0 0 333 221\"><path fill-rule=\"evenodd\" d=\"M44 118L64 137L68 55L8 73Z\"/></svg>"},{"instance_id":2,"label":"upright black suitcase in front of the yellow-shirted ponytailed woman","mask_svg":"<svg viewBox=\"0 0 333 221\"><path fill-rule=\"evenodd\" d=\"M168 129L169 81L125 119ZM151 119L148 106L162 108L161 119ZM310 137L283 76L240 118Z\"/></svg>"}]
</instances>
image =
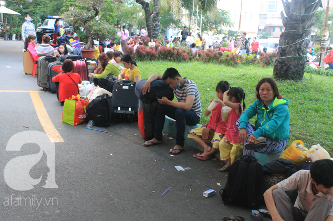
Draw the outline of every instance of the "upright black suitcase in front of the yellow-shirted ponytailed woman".
<instances>
[{"instance_id":1,"label":"upright black suitcase in front of the yellow-shirted ponytailed woman","mask_svg":"<svg viewBox=\"0 0 333 221\"><path fill-rule=\"evenodd\" d=\"M122 80L113 85L112 106L118 120L137 120L139 99L134 90L134 81Z\"/></svg>"}]
</instances>

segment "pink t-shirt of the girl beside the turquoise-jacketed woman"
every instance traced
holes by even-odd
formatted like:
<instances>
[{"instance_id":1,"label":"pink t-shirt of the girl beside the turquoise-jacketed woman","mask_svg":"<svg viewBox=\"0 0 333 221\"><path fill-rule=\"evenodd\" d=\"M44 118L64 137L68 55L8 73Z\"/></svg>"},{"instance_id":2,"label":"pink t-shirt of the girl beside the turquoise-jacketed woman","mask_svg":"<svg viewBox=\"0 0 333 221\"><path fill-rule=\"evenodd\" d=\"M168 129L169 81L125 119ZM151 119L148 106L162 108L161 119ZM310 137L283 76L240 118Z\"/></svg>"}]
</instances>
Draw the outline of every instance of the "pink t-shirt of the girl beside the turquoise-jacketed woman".
<instances>
[{"instance_id":1,"label":"pink t-shirt of the girl beside the turquoise-jacketed woman","mask_svg":"<svg viewBox=\"0 0 333 221\"><path fill-rule=\"evenodd\" d=\"M241 113L237 114L235 109L232 108L229 112L229 117L228 117L228 122L227 122L227 131L226 133L224 134L224 136L226 138L228 138L228 140L231 142L231 143L239 143L239 142L242 142L239 138L238 138L238 135L239 135L239 130L236 126L236 121L239 119L240 115L242 114L243 112L243 106L241 106L239 103L235 103L237 104L238 106L241 107Z\"/></svg>"}]
</instances>

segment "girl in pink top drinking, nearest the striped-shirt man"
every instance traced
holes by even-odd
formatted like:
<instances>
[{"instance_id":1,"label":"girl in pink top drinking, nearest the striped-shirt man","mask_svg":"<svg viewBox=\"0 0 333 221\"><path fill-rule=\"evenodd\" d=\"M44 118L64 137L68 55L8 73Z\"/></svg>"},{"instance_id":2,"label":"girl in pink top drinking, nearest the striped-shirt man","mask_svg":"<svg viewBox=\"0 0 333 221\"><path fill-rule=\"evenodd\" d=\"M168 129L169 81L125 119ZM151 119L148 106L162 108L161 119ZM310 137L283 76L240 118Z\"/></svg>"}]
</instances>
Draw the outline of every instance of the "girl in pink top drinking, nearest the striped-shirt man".
<instances>
[{"instance_id":1,"label":"girl in pink top drinking, nearest the striped-shirt man","mask_svg":"<svg viewBox=\"0 0 333 221\"><path fill-rule=\"evenodd\" d=\"M209 116L212 113L210 121L200 128L195 128L189 131L188 137L200 144L204 149L203 153L193 155L194 158L198 158L199 160L209 160L212 158L213 154L217 151L217 149L219 149L219 142L224 136L224 133L226 132L226 122L223 122L221 118L221 109L224 106L223 93L229 88L230 86L227 81L220 81L219 83L217 83L217 99L212 99L211 105L204 112L205 116ZM211 140L213 148L211 148L211 146L205 143L204 140L201 138L204 128L215 129L214 137Z\"/></svg>"}]
</instances>

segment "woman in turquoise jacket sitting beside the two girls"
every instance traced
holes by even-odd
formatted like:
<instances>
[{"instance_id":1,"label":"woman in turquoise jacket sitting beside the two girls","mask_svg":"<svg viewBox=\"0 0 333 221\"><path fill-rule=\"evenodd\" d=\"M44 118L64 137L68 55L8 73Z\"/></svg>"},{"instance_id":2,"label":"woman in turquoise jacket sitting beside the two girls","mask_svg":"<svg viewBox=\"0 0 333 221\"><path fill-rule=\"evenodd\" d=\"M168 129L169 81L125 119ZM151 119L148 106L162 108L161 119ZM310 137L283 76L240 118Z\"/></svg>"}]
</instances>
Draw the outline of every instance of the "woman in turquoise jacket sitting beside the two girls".
<instances>
[{"instance_id":1,"label":"woman in turquoise jacket sitting beside the two girls","mask_svg":"<svg viewBox=\"0 0 333 221\"><path fill-rule=\"evenodd\" d=\"M282 99L272 78L256 86L257 100L239 118L239 138L245 143L243 154L278 153L289 138L289 101ZM257 115L255 126L248 120Z\"/></svg>"}]
</instances>

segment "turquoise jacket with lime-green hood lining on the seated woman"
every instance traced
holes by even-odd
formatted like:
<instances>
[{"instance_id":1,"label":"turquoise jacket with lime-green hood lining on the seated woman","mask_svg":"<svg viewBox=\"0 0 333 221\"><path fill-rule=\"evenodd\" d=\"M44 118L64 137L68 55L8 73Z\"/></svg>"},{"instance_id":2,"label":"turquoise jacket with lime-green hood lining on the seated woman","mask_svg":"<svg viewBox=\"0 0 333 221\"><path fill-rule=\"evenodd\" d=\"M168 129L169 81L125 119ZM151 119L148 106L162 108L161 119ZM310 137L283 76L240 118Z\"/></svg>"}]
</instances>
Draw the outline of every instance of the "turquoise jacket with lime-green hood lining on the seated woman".
<instances>
[{"instance_id":1,"label":"turquoise jacket with lime-green hood lining on the seated woman","mask_svg":"<svg viewBox=\"0 0 333 221\"><path fill-rule=\"evenodd\" d=\"M256 131L253 133L255 137L268 137L274 141L288 140L289 138L289 101L286 99L278 99L265 109L264 102L257 99L247 108L239 118L240 128L245 128L248 120L257 115L255 121Z\"/></svg>"}]
</instances>

